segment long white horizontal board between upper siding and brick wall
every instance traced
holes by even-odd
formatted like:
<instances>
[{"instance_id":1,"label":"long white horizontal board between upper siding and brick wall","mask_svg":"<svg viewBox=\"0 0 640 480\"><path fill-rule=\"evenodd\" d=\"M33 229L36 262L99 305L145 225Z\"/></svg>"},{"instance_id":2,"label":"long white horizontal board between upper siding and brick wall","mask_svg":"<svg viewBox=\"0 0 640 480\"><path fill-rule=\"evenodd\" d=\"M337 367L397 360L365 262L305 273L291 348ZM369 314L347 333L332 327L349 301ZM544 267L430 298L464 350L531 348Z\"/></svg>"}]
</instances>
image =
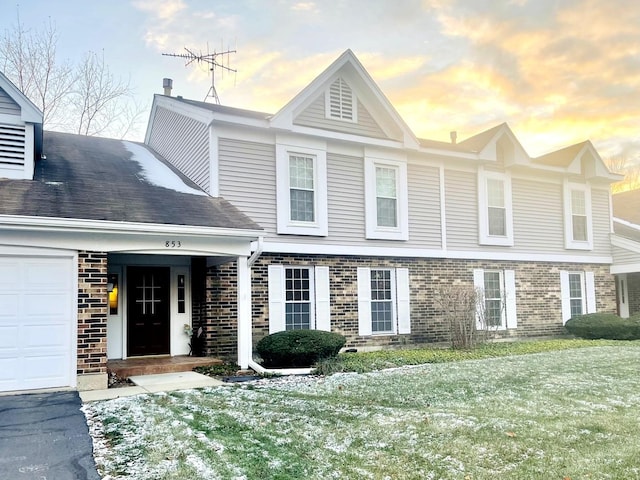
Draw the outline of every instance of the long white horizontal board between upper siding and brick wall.
<instances>
[{"instance_id":1,"label":"long white horizontal board between upper siding and brick wall","mask_svg":"<svg viewBox=\"0 0 640 480\"><path fill-rule=\"evenodd\" d=\"M515 262L562 262L611 264L610 255L563 255L515 253L498 251L465 251L404 247L373 247L367 245L322 245L308 243L275 243L265 240L264 253L333 255L348 257L414 257L414 258L454 258L462 260L504 260Z\"/></svg>"}]
</instances>

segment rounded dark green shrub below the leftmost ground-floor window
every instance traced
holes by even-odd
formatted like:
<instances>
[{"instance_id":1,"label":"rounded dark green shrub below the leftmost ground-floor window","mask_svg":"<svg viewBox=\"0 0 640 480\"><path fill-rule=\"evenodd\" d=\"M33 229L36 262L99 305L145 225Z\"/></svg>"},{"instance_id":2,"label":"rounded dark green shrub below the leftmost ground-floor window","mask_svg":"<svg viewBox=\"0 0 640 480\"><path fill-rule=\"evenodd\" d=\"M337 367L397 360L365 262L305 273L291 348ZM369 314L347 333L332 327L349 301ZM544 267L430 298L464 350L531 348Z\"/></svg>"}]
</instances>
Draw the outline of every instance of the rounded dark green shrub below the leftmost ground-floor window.
<instances>
[{"instance_id":1,"label":"rounded dark green shrub below the leftmost ground-floor window","mask_svg":"<svg viewBox=\"0 0 640 480\"><path fill-rule=\"evenodd\" d=\"M262 366L310 367L323 358L335 357L346 339L322 330L288 330L263 337L256 345Z\"/></svg>"}]
</instances>

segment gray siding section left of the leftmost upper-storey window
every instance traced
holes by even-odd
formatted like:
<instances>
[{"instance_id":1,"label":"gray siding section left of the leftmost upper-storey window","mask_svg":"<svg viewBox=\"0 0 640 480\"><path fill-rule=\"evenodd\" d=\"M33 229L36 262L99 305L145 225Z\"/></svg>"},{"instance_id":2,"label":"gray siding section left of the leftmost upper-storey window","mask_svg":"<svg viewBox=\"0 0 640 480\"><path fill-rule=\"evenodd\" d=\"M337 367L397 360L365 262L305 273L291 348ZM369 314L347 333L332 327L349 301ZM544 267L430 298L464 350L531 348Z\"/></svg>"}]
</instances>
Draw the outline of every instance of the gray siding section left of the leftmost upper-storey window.
<instances>
[{"instance_id":1,"label":"gray siding section left of the leftmost upper-storey window","mask_svg":"<svg viewBox=\"0 0 640 480\"><path fill-rule=\"evenodd\" d=\"M275 232L275 146L219 138L218 162L220 196L267 232Z\"/></svg>"}]
</instances>

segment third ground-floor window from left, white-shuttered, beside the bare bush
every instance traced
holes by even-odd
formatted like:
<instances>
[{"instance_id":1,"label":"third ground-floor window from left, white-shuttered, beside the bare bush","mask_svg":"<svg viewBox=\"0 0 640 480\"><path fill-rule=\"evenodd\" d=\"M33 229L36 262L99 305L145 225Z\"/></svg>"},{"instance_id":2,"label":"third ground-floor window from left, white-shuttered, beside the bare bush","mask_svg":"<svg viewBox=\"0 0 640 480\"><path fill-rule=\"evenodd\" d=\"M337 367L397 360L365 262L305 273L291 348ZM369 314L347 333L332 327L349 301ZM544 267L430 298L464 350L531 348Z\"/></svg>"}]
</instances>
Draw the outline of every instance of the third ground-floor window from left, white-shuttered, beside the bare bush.
<instances>
[{"instance_id":1,"label":"third ground-floor window from left, white-shuttered, beside the bare bush","mask_svg":"<svg viewBox=\"0 0 640 480\"><path fill-rule=\"evenodd\" d=\"M473 271L473 284L480 295L476 328L505 330L518 327L513 270L477 268Z\"/></svg>"}]
</instances>

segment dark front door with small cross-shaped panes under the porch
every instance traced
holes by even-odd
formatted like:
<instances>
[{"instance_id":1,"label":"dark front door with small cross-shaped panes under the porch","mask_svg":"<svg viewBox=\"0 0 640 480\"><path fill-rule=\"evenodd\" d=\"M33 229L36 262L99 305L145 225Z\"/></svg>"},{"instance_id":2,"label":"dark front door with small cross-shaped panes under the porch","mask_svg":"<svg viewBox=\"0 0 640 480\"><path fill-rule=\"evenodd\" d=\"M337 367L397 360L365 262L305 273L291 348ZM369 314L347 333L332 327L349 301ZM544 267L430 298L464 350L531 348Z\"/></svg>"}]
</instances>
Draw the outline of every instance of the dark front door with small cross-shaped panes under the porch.
<instances>
[{"instance_id":1,"label":"dark front door with small cross-shaped panes under the porch","mask_svg":"<svg viewBox=\"0 0 640 480\"><path fill-rule=\"evenodd\" d=\"M127 355L169 352L169 268L127 269Z\"/></svg>"}]
</instances>

